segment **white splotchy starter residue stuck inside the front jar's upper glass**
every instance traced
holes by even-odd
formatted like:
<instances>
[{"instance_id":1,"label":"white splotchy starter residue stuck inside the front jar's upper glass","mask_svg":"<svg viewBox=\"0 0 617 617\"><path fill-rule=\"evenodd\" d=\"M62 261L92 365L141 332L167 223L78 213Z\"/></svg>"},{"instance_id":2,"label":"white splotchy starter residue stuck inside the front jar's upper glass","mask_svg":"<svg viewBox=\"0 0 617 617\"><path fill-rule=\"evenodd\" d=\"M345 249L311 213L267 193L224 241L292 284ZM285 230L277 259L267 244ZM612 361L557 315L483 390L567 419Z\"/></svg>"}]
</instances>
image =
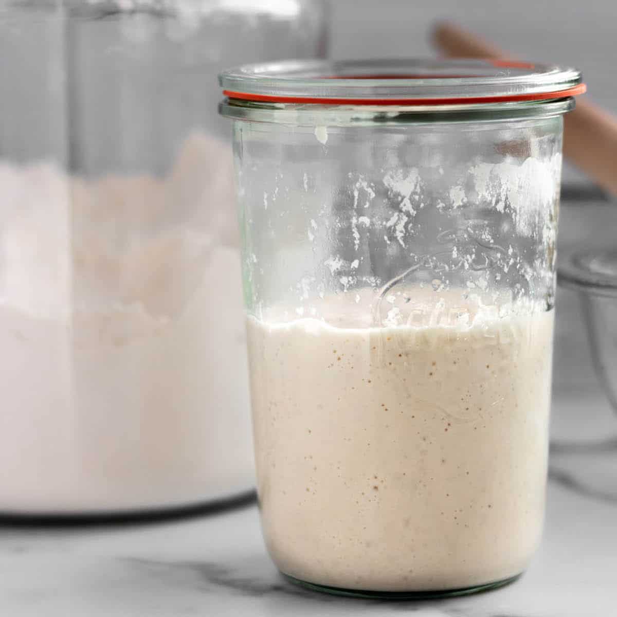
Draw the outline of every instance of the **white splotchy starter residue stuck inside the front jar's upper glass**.
<instances>
[{"instance_id":1,"label":"white splotchy starter residue stuck inside the front jar's upper glass","mask_svg":"<svg viewBox=\"0 0 617 617\"><path fill-rule=\"evenodd\" d=\"M327 135L321 128L315 128L318 139ZM323 206L323 216L310 219L306 234L332 276L329 291L348 292L367 276L376 287L388 283L367 271L371 247L401 264L396 276L422 271L423 284L438 280L439 291L462 286L485 293L501 286L515 299L549 297L552 305L552 276L545 273L554 266L549 262L555 255L560 169L561 155L555 154L547 160L478 162L460 175L394 164L372 178L349 172L348 195L341 193L336 207ZM304 172L304 191L315 181ZM502 245L499 238L510 230L529 238L533 248L523 254L509 242ZM316 289L308 289L303 300L316 296Z\"/></svg>"}]
</instances>

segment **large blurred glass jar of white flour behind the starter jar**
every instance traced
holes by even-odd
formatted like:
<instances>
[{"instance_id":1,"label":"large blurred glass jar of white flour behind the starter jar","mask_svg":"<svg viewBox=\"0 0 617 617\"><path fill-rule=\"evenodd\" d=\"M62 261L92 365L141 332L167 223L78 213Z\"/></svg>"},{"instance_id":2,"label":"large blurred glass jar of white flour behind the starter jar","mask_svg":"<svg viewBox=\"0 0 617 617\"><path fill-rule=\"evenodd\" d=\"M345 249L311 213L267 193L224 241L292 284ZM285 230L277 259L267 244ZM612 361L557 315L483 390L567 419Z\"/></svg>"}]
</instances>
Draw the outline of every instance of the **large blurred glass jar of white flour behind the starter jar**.
<instances>
[{"instance_id":1,"label":"large blurred glass jar of white flour behind the starter jar","mask_svg":"<svg viewBox=\"0 0 617 617\"><path fill-rule=\"evenodd\" d=\"M318 1L2 2L0 513L254 486L216 75L320 57Z\"/></svg>"}]
</instances>

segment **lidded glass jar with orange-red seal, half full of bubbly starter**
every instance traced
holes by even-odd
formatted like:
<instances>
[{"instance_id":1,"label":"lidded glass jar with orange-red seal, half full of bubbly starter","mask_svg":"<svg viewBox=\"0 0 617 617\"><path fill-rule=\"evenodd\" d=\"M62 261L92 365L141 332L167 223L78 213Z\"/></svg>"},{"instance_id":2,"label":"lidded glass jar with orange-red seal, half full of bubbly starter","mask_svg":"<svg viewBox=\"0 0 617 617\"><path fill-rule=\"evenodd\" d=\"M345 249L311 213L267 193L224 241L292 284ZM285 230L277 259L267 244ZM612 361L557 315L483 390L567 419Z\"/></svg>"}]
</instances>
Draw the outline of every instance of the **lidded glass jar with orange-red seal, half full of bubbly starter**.
<instances>
[{"instance_id":1,"label":"lidded glass jar with orange-red seal, half full of bubbly starter","mask_svg":"<svg viewBox=\"0 0 617 617\"><path fill-rule=\"evenodd\" d=\"M347 595L513 580L544 515L579 73L287 62L221 81L271 557Z\"/></svg>"}]
</instances>

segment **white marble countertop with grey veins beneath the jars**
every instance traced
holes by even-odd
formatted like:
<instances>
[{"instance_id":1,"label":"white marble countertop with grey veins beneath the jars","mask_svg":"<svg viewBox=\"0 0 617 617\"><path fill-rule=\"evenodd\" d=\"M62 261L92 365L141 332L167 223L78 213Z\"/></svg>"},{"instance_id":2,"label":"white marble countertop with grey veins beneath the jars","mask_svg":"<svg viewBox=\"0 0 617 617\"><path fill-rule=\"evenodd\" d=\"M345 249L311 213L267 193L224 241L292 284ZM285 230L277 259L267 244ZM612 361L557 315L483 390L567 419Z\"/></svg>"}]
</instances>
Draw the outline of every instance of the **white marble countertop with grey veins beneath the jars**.
<instances>
[{"instance_id":1,"label":"white marble countertop with grey veins beneath the jars","mask_svg":"<svg viewBox=\"0 0 617 617\"><path fill-rule=\"evenodd\" d=\"M565 440L581 408L553 405ZM601 399L598 434L617 423ZM592 420L592 421L591 421ZM553 431L555 433L555 431ZM586 439L594 440L589 434ZM571 441L571 440L570 440ZM563 441L562 441L563 444ZM317 594L284 581L262 542L254 503L184 520L81 528L0 526L0 615L10 617L609 617L617 611L617 447L598 460L552 455L539 552L519 581L452 600L382 602ZM607 473L598 470L610 465ZM604 484L602 484L604 482ZM613 492L611 489L615 489Z\"/></svg>"}]
</instances>

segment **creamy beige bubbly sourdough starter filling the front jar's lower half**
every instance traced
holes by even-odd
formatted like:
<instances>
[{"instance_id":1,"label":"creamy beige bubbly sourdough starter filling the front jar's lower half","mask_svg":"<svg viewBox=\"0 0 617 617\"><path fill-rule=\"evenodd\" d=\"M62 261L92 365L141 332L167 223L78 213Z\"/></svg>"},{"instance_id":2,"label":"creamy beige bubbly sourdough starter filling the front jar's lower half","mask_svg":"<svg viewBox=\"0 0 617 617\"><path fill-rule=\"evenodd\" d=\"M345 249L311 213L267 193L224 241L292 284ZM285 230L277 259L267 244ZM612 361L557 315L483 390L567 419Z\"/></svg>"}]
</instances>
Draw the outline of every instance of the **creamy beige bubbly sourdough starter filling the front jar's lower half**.
<instances>
[{"instance_id":1,"label":"creamy beige bubbly sourdough starter filling the front jar's lower half","mask_svg":"<svg viewBox=\"0 0 617 617\"><path fill-rule=\"evenodd\" d=\"M276 564L384 591L520 573L544 516L553 312L499 317L452 291L439 297L457 310L371 327L365 303L342 296L320 319L275 309L248 322Z\"/></svg>"}]
</instances>

